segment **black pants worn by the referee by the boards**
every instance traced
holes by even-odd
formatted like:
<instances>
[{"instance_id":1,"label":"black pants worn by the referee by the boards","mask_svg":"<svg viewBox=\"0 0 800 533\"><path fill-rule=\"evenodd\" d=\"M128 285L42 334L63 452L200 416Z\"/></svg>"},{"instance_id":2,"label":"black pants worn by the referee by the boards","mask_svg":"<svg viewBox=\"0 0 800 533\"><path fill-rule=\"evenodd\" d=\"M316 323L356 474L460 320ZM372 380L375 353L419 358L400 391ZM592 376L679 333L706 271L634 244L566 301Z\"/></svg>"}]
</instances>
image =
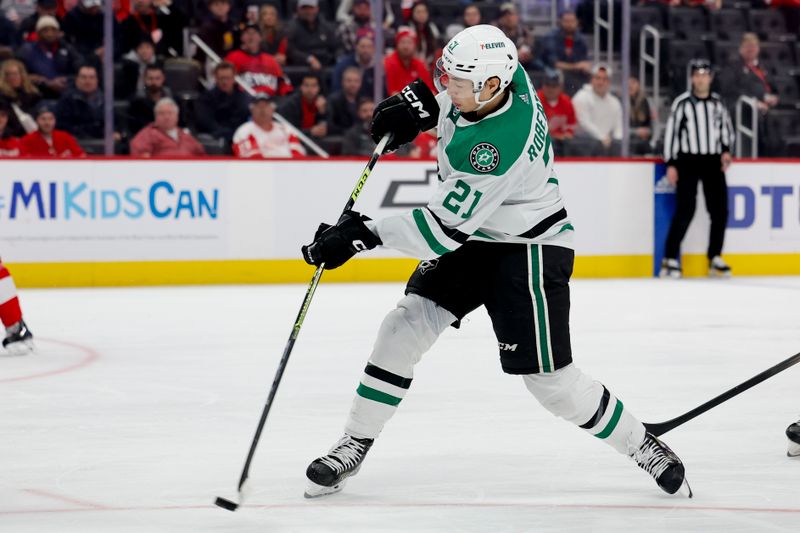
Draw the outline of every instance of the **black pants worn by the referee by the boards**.
<instances>
[{"instance_id":1,"label":"black pants worn by the referee by the boards","mask_svg":"<svg viewBox=\"0 0 800 533\"><path fill-rule=\"evenodd\" d=\"M728 224L728 184L719 155L681 155L677 162L678 187L675 216L667 235L664 256L677 259L681 241L689 229L697 206L697 182L703 183L706 208L711 217L708 258L722 254L725 227Z\"/></svg>"}]
</instances>

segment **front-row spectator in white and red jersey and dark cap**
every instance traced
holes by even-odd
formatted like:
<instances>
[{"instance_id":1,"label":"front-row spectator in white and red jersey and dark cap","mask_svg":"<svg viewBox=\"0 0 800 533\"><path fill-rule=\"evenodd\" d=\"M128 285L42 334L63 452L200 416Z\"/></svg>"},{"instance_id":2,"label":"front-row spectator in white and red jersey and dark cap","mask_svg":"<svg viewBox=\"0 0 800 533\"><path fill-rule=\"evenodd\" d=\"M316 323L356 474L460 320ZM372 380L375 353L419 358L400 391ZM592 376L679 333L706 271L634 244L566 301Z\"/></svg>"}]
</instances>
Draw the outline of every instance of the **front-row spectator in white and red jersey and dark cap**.
<instances>
[{"instance_id":1,"label":"front-row spectator in white and red jersey and dark cap","mask_svg":"<svg viewBox=\"0 0 800 533\"><path fill-rule=\"evenodd\" d=\"M275 104L269 95L259 93L250 104L251 119L233 135L233 153L237 157L302 157L306 151L297 137L283 124L272 119Z\"/></svg>"}]
</instances>

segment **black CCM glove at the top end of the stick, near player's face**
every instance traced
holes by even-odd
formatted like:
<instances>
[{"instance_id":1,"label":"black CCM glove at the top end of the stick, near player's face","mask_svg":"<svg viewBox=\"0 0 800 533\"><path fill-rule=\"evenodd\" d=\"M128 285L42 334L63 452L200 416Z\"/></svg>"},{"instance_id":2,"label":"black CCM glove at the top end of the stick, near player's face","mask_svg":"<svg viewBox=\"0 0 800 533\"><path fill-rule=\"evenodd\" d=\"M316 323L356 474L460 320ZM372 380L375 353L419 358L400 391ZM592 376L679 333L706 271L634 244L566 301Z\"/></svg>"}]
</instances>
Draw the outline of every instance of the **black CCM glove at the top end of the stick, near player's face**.
<instances>
[{"instance_id":1,"label":"black CCM glove at the top end of the stick, near player's face","mask_svg":"<svg viewBox=\"0 0 800 533\"><path fill-rule=\"evenodd\" d=\"M439 121L439 104L422 80L417 78L394 96L375 107L370 135L377 143L391 133L384 152L394 152L416 139L420 131L435 128Z\"/></svg>"}]
</instances>

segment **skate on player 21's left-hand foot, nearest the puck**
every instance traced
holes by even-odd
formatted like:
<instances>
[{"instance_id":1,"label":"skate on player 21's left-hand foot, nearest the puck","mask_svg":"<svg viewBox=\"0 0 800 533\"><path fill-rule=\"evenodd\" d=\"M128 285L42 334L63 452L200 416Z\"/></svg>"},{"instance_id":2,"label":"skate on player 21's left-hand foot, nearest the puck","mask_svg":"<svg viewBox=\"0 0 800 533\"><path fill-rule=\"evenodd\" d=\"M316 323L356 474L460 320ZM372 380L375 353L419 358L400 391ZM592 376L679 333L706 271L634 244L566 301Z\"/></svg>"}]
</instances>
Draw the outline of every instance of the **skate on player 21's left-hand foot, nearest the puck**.
<instances>
[{"instance_id":1,"label":"skate on player 21's left-hand foot, nearest the puck","mask_svg":"<svg viewBox=\"0 0 800 533\"><path fill-rule=\"evenodd\" d=\"M328 455L308 465L305 497L316 498L342 490L347 478L358 473L372 443L373 439L357 439L345 433Z\"/></svg>"}]
</instances>

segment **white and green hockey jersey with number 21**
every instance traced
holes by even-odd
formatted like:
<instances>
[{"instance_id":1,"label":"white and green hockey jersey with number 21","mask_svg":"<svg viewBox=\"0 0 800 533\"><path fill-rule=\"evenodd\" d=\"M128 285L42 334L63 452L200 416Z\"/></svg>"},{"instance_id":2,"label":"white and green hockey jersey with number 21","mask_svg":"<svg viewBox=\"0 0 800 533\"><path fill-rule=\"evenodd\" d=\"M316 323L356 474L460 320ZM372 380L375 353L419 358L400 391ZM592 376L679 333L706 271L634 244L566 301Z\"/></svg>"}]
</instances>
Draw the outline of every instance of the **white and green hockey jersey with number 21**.
<instances>
[{"instance_id":1,"label":"white and green hockey jersey with number 21","mask_svg":"<svg viewBox=\"0 0 800 533\"><path fill-rule=\"evenodd\" d=\"M508 100L477 122L446 92L436 96L439 187L425 207L367 223L384 246L420 259L472 240L573 247L547 117L521 66L513 82Z\"/></svg>"}]
</instances>

